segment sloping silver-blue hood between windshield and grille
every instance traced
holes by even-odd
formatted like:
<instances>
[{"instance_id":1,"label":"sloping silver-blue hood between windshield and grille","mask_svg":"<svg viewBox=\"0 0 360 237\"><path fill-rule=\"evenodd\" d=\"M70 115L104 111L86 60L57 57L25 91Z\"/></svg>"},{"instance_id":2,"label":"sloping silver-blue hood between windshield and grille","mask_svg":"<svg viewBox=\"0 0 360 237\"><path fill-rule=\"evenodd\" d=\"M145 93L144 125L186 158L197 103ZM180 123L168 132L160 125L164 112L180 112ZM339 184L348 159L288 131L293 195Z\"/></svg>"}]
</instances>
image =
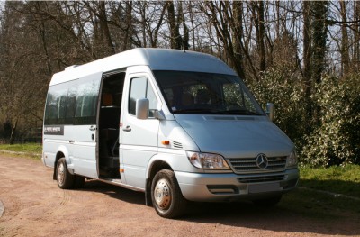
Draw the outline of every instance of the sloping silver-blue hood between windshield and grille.
<instances>
[{"instance_id":1,"label":"sloping silver-blue hood between windshield and grille","mask_svg":"<svg viewBox=\"0 0 360 237\"><path fill-rule=\"evenodd\" d=\"M202 152L225 158L287 156L294 149L293 141L266 116L175 114L175 120Z\"/></svg>"}]
</instances>

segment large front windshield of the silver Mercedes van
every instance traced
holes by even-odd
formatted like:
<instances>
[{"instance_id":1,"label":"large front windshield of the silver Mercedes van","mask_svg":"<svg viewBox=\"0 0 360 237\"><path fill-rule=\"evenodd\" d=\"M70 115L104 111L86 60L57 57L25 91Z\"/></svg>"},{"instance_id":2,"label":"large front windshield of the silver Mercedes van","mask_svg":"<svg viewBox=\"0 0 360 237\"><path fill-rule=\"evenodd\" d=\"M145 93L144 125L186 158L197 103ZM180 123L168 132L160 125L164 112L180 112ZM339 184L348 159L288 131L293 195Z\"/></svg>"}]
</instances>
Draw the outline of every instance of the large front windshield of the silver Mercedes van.
<instances>
[{"instance_id":1,"label":"large front windshield of the silver Mercedes van","mask_svg":"<svg viewBox=\"0 0 360 237\"><path fill-rule=\"evenodd\" d=\"M189 71L154 71L173 114L264 115L240 78Z\"/></svg>"}]
</instances>

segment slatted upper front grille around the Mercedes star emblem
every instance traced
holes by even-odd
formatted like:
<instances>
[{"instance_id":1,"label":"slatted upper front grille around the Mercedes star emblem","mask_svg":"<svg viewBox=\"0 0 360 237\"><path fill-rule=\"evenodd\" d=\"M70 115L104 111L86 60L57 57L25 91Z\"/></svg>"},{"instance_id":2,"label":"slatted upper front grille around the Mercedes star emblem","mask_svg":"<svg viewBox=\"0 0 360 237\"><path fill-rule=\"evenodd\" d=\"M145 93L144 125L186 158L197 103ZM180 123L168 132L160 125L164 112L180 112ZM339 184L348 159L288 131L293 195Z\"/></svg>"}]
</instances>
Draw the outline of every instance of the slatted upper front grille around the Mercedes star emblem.
<instances>
[{"instance_id":1,"label":"slatted upper front grille around the Mercedes star emblem","mask_svg":"<svg viewBox=\"0 0 360 237\"><path fill-rule=\"evenodd\" d=\"M268 157L266 169L260 169L257 166L257 158L231 158L229 159L231 167L236 173L249 173L261 171L281 171L285 169L286 157Z\"/></svg>"}]
</instances>

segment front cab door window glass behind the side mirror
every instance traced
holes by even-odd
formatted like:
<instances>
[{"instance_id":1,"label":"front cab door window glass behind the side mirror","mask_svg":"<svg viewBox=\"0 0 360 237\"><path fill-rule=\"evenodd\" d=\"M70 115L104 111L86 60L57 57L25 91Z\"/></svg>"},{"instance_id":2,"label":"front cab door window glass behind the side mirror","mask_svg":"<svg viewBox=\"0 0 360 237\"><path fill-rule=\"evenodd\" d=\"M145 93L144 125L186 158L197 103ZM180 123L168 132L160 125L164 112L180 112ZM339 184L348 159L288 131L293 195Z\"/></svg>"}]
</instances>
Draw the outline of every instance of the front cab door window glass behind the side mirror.
<instances>
[{"instance_id":1,"label":"front cab door window glass behind the side mirror","mask_svg":"<svg viewBox=\"0 0 360 237\"><path fill-rule=\"evenodd\" d=\"M129 114L136 115L136 100L148 98L148 117L154 117L154 110L157 109L157 96L148 83L146 77L132 78L130 81Z\"/></svg>"}]
</instances>

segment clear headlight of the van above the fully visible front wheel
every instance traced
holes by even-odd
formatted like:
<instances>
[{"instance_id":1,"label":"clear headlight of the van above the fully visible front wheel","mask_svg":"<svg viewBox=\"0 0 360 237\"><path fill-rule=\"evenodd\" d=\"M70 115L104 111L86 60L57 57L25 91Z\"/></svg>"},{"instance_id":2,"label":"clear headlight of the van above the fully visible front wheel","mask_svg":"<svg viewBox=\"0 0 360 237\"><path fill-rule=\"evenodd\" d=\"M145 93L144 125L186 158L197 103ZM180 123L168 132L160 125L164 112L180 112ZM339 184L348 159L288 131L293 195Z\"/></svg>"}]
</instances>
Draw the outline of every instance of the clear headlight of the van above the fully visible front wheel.
<instances>
[{"instance_id":1,"label":"clear headlight of the van above the fully visible front wheel","mask_svg":"<svg viewBox=\"0 0 360 237\"><path fill-rule=\"evenodd\" d=\"M229 169L228 163L218 154L186 151L187 157L194 167L199 169Z\"/></svg>"}]
</instances>

